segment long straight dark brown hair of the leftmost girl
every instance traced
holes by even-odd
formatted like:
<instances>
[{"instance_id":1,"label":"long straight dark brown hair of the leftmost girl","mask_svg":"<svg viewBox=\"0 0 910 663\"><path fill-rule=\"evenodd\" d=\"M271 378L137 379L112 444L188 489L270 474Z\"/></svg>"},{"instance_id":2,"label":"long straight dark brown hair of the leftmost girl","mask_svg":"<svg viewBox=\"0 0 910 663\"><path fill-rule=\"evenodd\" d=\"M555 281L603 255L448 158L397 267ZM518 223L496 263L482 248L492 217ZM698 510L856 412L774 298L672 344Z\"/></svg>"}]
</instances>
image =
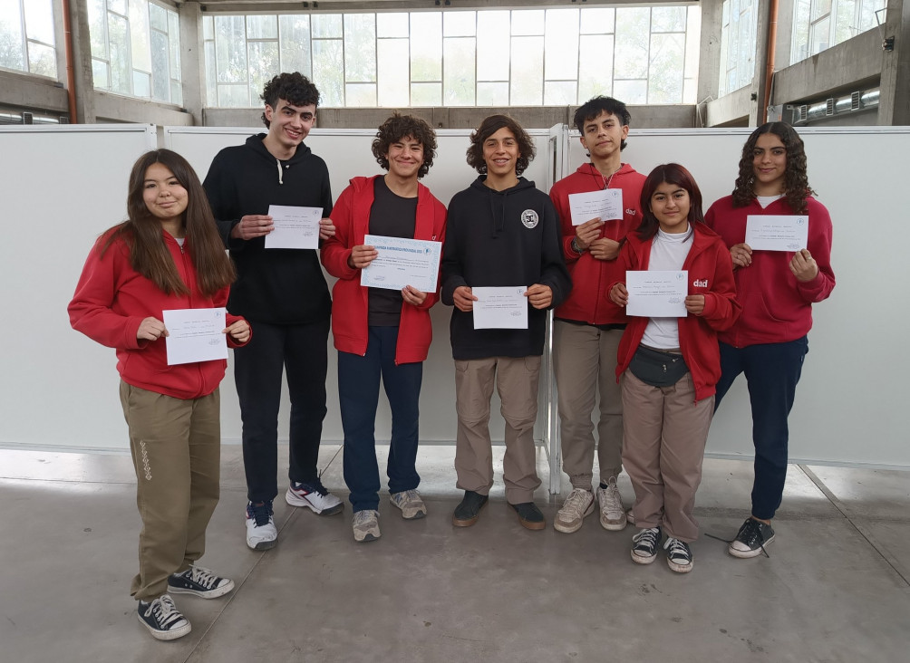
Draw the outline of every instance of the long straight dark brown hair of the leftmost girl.
<instances>
[{"instance_id":1,"label":"long straight dark brown hair of the leftmost girl","mask_svg":"<svg viewBox=\"0 0 910 663\"><path fill-rule=\"evenodd\" d=\"M126 195L127 219L106 231L101 255L116 240L122 240L129 249L129 264L142 276L152 281L167 295L188 295L189 287L177 273L174 259L161 236L161 221L148 211L142 194L145 190L146 171L153 164L165 166L187 189L187 209L183 225L187 231L189 256L196 268L197 288L206 295L234 282L234 265L225 253L218 235L215 217L208 206L205 189L187 160L171 150L147 152L136 160L129 174Z\"/></svg>"}]
</instances>

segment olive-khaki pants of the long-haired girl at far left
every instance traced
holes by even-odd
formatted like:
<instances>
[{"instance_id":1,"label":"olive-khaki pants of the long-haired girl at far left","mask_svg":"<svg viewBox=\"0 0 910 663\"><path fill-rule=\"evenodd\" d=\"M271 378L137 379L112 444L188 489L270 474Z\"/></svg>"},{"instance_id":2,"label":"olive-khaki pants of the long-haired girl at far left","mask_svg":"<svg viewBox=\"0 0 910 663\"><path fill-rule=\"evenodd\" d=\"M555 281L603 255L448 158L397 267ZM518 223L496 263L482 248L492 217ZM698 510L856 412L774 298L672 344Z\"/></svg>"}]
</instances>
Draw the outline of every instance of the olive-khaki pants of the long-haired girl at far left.
<instances>
[{"instance_id":1,"label":"olive-khaki pants of the long-haired girl at far left","mask_svg":"<svg viewBox=\"0 0 910 663\"><path fill-rule=\"evenodd\" d=\"M139 572L130 594L152 600L167 577L185 571L206 550L206 527L218 503L220 399L183 400L120 382L136 467L142 517Z\"/></svg>"}]
</instances>

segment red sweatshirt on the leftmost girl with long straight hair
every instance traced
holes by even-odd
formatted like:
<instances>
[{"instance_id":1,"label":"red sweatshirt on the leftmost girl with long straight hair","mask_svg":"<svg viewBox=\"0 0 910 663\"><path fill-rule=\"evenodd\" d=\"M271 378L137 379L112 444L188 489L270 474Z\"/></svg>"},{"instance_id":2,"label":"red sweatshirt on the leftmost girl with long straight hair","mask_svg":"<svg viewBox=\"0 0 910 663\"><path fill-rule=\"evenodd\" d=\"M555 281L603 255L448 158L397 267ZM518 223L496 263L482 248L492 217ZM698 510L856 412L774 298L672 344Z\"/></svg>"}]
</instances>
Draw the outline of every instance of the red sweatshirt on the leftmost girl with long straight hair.
<instances>
[{"instance_id":1,"label":"red sweatshirt on the leftmost girl with long straight hair","mask_svg":"<svg viewBox=\"0 0 910 663\"><path fill-rule=\"evenodd\" d=\"M101 236L86 258L76 294L66 310L69 322L103 346L116 348L116 369L124 382L165 396L189 400L211 394L225 377L227 361L202 361L167 366L164 337L155 341L139 340L136 331L147 317L162 320L162 311L179 308L215 308L227 304L229 288L214 296L203 296L197 289L196 269L190 259L188 242L181 249L177 240L164 230L163 241L177 273L189 287L189 295L166 295L152 281L138 274L129 264L129 248L122 239L109 246L104 256L101 247L111 232ZM227 315L227 325L243 318ZM239 345L227 337L229 347Z\"/></svg>"}]
</instances>

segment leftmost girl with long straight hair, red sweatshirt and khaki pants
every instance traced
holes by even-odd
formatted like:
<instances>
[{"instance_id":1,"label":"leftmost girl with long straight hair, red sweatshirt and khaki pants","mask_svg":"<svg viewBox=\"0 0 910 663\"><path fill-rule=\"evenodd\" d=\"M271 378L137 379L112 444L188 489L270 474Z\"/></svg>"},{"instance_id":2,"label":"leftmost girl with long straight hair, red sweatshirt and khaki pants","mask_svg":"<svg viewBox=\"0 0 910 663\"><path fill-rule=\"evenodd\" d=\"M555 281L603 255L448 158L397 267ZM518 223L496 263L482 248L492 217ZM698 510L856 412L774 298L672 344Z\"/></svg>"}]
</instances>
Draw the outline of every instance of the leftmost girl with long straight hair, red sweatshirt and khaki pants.
<instances>
[{"instance_id":1,"label":"leftmost girl with long straight hair, red sweatshirt and khaki pants","mask_svg":"<svg viewBox=\"0 0 910 663\"><path fill-rule=\"evenodd\" d=\"M234 268L182 156L165 149L140 156L126 209L127 220L89 253L67 310L74 329L116 348L142 517L130 594L152 636L172 640L191 627L168 590L217 598L234 583L196 564L218 502L218 383L227 362L169 365L162 312L225 306ZM230 347L250 338L247 321L230 314L222 333Z\"/></svg>"}]
</instances>

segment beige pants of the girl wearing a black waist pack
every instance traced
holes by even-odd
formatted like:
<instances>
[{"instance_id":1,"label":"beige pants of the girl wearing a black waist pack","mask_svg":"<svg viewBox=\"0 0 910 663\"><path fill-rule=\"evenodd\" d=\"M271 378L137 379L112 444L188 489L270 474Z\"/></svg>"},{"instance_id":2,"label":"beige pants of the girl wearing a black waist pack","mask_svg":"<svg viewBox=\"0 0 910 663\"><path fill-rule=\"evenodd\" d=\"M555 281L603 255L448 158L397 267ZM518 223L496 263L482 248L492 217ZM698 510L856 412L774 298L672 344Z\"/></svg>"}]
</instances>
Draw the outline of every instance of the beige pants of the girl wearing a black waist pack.
<instances>
[{"instance_id":1,"label":"beige pants of the girl wearing a black waist pack","mask_svg":"<svg viewBox=\"0 0 910 663\"><path fill-rule=\"evenodd\" d=\"M661 526L689 543L698 538L695 491L714 413L713 396L694 400L690 373L672 387L646 385L629 370L622 374L622 462L635 489L635 527Z\"/></svg>"}]
</instances>

